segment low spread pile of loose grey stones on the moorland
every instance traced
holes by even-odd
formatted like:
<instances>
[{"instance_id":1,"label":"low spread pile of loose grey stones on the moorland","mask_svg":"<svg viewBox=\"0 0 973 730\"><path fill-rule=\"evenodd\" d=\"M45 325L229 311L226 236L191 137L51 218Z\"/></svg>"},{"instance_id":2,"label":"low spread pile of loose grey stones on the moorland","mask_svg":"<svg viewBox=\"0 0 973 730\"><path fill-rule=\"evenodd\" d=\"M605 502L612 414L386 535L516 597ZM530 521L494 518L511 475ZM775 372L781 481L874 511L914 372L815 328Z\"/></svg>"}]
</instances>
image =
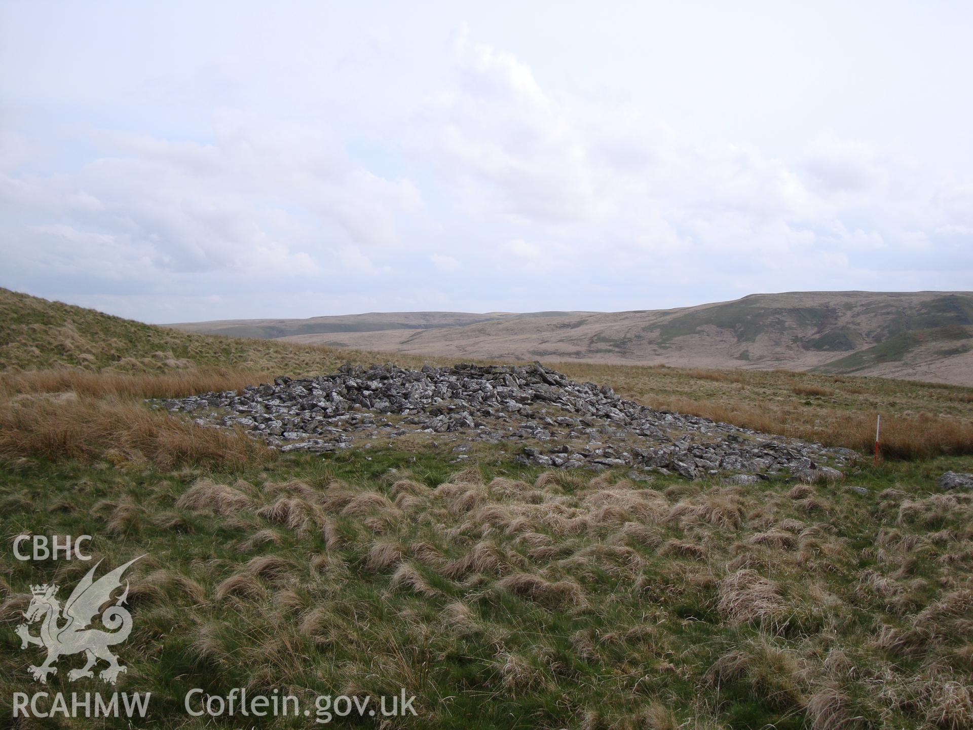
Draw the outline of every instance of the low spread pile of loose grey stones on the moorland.
<instances>
[{"instance_id":1,"label":"low spread pile of loose grey stones on the moorland","mask_svg":"<svg viewBox=\"0 0 973 730\"><path fill-rule=\"evenodd\" d=\"M836 479L841 472L824 462L841 466L857 456L646 408L539 363L421 370L345 365L332 375L276 378L156 405L192 413L202 425L242 426L282 452L369 448L379 439L435 434L427 438L460 454L474 442L504 442L542 466L629 466L689 479L730 473L741 483L782 470Z\"/></svg>"}]
</instances>

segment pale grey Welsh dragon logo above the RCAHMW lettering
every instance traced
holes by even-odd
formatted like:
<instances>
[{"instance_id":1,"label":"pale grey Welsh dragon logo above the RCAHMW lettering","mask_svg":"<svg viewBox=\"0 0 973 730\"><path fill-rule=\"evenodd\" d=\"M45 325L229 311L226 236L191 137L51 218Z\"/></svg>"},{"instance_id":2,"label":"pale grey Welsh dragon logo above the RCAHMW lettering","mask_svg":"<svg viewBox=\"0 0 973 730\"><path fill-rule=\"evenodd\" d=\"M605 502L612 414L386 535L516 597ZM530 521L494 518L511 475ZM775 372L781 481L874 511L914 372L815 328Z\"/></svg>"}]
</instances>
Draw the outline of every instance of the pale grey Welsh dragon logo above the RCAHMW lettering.
<instances>
[{"instance_id":1,"label":"pale grey Welsh dragon logo above the RCAHMW lettering","mask_svg":"<svg viewBox=\"0 0 973 730\"><path fill-rule=\"evenodd\" d=\"M48 650L48 658L44 664L29 668L34 679L46 683L48 675L57 674L54 662L61 656L85 652L88 663L81 669L68 672L68 679L74 681L82 677L93 677L91 667L98 659L103 659L109 666L101 670L98 676L112 684L118 680L119 674L125 672L126 667L119 664L118 657L108 647L122 643L131 633L131 614L122 606L128 597L128 582L126 581L125 591L113 605L105 608L104 612L101 611L101 606L110 602L112 592L122 585L122 574L128 566L144 557L139 556L93 580L95 568L101 565L101 561L98 561L75 586L64 603L63 610L57 601L58 586L54 583L30 587L32 598L27 610L23 612L24 623L17 627L16 632L20 637L21 649L35 644ZM108 631L89 628L91 621L99 613L101 623ZM36 621L41 621L41 632L35 637L30 633L30 624ZM58 625L60 621L63 623Z\"/></svg>"}]
</instances>

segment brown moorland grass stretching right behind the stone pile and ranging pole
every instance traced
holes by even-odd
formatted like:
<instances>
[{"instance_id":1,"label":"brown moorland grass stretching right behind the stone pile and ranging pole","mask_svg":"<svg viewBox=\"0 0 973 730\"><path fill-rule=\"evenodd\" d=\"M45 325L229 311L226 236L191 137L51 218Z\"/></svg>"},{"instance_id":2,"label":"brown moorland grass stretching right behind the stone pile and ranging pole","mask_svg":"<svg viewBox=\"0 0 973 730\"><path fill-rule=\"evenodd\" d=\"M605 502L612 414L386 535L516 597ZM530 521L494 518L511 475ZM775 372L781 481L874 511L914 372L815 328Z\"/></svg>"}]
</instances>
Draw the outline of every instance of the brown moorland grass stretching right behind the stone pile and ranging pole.
<instances>
[{"instance_id":1,"label":"brown moorland grass stretching right behind the stone pile and ranging pole","mask_svg":"<svg viewBox=\"0 0 973 730\"><path fill-rule=\"evenodd\" d=\"M871 453L882 414L882 454L925 458L973 454L973 388L777 371L682 370L665 366L558 363L576 380L610 383L653 408L765 433Z\"/></svg>"}]
</instances>

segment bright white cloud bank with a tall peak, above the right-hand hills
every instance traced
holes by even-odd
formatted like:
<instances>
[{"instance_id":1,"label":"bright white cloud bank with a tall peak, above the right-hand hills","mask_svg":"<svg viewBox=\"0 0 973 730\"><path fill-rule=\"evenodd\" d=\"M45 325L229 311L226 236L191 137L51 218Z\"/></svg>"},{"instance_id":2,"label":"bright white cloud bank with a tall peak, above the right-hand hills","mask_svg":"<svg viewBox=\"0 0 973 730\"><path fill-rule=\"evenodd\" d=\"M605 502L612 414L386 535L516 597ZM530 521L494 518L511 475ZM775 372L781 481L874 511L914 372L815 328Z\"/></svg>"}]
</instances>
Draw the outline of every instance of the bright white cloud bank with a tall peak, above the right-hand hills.
<instances>
[{"instance_id":1,"label":"bright white cloud bank with a tall peak, above the right-hand hills","mask_svg":"<svg viewBox=\"0 0 973 730\"><path fill-rule=\"evenodd\" d=\"M556 249L549 265L579 276L676 259L705 267L717 254L773 282L800 254L805 288L824 288L836 262L907 267L910 251L935 250L918 232L968 210L955 187L951 205L937 203L941 181L869 143L830 137L792 161L695 144L644 111L556 98L519 58L466 35L456 53L452 86L426 109L445 140L437 162L465 210L487 226L514 224L520 236L502 250L521 260L538 260L526 241L540 236ZM895 252L868 260L890 242Z\"/></svg>"}]
</instances>

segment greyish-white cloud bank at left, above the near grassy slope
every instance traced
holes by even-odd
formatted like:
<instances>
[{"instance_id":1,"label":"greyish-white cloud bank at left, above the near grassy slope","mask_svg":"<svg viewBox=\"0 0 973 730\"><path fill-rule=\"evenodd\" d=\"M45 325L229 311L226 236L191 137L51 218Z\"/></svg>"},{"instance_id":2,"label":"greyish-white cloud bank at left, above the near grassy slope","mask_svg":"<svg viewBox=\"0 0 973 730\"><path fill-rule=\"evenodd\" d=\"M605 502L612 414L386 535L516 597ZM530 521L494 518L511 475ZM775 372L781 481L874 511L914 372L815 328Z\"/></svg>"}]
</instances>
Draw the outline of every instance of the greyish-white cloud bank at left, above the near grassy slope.
<instances>
[{"instance_id":1,"label":"greyish-white cloud bank at left, above the near grassy slope","mask_svg":"<svg viewBox=\"0 0 973 730\"><path fill-rule=\"evenodd\" d=\"M320 128L229 115L210 143L105 132L96 141L105 152L74 173L8 175L5 187L22 211L58 221L9 232L19 237L18 258L33 256L30 239L48 241L42 245L79 272L117 269L132 259L128 250L138 252L145 276L313 274L334 252L371 271L359 247L396 245L399 217L422 206L411 181L352 164ZM289 225L295 216L316 220L313 234ZM77 246L61 250L52 226L62 238L74 232ZM103 261L108 240L119 250ZM348 250L356 253L349 258Z\"/></svg>"}]
</instances>

